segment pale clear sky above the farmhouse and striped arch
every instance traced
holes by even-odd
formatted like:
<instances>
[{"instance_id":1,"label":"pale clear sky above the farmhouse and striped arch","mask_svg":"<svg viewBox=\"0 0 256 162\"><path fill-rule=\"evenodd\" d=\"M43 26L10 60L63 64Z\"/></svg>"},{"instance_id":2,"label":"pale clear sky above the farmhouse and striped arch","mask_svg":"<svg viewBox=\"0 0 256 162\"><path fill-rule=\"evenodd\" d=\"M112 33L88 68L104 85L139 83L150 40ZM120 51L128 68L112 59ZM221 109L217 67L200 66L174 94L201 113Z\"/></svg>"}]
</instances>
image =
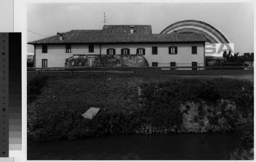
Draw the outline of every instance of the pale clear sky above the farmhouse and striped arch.
<instances>
[{"instance_id":1,"label":"pale clear sky above the farmhouse and striped arch","mask_svg":"<svg viewBox=\"0 0 256 162\"><path fill-rule=\"evenodd\" d=\"M221 31L239 55L253 52L253 3L28 3L27 41L73 29L151 25L152 33L182 20L200 20ZM40 35L43 36L40 36ZM33 45L27 45L33 53Z\"/></svg>"}]
</instances>

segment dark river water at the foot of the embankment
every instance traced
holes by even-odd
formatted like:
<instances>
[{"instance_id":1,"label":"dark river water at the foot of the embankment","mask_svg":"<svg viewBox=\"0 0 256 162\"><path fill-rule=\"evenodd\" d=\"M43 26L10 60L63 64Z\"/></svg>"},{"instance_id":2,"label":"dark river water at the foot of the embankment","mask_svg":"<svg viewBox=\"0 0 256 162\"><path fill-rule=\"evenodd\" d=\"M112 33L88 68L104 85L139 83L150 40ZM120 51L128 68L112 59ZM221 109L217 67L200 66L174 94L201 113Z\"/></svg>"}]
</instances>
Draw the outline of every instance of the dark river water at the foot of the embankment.
<instances>
[{"instance_id":1,"label":"dark river water at the foot of the embankment","mask_svg":"<svg viewBox=\"0 0 256 162\"><path fill-rule=\"evenodd\" d=\"M111 135L99 139L28 142L28 160L225 160L237 134Z\"/></svg>"}]
</instances>

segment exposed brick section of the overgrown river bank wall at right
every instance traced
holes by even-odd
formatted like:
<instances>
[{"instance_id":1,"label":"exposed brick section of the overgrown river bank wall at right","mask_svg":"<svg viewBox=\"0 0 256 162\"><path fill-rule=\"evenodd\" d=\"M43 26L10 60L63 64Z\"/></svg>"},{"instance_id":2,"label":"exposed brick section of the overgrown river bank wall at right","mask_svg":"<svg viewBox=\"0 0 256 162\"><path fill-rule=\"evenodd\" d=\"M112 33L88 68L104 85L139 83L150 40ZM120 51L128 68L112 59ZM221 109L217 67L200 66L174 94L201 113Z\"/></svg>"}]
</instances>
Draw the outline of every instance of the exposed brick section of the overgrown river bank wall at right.
<instances>
[{"instance_id":1,"label":"exposed brick section of the overgrown river bank wall at right","mask_svg":"<svg viewBox=\"0 0 256 162\"><path fill-rule=\"evenodd\" d=\"M224 102L226 104L223 105ZM187 105L190 106L190 109L187 113L183 113L182 132L230 131L231 127L225 117L217 118L216 123L210 123L209 118L220 115L222 106L225 106L225 110L236 110L234 102L220 100L215 105L206 102L187 102L180 105L181 111L185 110ZM213 113L214 111L215 113Z\"/></svg>"}]
</instances>

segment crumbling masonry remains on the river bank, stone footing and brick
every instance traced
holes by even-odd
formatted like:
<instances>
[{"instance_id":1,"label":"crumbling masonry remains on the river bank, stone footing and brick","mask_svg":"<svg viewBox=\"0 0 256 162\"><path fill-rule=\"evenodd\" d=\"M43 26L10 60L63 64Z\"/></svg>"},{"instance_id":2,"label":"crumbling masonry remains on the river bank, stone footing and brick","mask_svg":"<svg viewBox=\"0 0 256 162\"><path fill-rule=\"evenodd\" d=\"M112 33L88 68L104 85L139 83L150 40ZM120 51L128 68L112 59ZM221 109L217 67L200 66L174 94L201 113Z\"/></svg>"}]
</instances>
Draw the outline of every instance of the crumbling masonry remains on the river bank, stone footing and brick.
<instances>
[{"instance_id":1,"label":"crumbling masonry remains on the river bank, stone footing and brick","mask_svg":"<svg viewBox=\"0 0 256 162\"><path fill-rule=\"evenodd\" d=\"M143 106L145 98L141 87L138 87L138 99L139 106ZM135 132L139 134L230 132L239 129L239 126L250 120L243 117L236 108L236 103L230 100L218 100L215 103L187 101L180 103L180 111L183 114L181 128L178 126L156 128L144 124Z\"/></svg>"}]
</instances>

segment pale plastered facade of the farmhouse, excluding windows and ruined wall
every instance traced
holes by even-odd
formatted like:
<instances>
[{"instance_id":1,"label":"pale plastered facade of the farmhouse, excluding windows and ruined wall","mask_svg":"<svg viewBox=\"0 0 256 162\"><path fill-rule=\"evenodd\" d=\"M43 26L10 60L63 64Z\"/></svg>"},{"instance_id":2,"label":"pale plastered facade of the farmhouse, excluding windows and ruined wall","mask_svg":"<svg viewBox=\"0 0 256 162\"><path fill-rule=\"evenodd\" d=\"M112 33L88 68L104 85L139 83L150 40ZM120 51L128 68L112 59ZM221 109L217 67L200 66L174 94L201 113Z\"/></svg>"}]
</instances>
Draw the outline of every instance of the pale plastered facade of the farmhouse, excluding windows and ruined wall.
<instances>
[{"instance_id":1,"label":"pale plastered facade of the farmhouse, excluding windows and ruined wall","mask_svg":"<svg viewBox=\"0 0 256 162\"><path fill-rule=\"evenodd\" d=\"M152 54L152 47L157 46L157 54ZM177 47L177 54L169 54L170 46ZM197 54L192 54L192 46L197 46ZM42 59L47 59L47 67L65 67L66 59L73 55L106 55L108 48L114 48L116 55L121 54L122 48L129 48L130 54L136 54L137 48L145 48L145 59L149 66L157 62L159 67L170 67L170 62L176 66L204 66L204 42L195 43L123 43L123 44L94 44L94 52L89 52L88 44L71 44L71 53L66 53L65 44L47 45L47 53L42 53L42 45L35 45L35 67L42 67Z\"/></svg>"}]
</instances>

